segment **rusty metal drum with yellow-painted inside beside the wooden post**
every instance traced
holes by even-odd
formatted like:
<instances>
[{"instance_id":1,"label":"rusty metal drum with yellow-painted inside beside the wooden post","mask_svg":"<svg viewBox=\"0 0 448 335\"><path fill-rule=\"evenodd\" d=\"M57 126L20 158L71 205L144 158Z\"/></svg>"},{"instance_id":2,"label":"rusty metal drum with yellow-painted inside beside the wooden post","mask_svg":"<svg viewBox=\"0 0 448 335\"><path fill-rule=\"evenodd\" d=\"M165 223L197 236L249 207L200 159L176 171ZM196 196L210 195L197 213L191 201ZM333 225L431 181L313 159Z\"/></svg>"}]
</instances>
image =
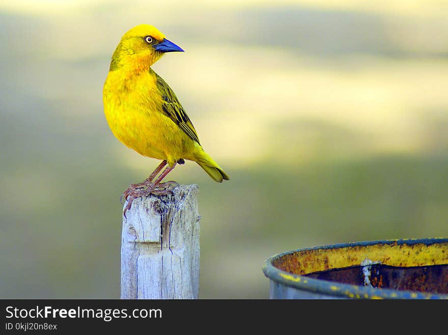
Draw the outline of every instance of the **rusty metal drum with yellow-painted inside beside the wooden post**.
<instances>
[{"instance_id":1,"label":"rusty metal drum with yellow-painted inside beside the wooden post","mask_svg":"<svg viewBox=\"0 0 448 335\"><path fill-rule=\"evenodd\" d=\"M448 299L448 238L293 250L263 272L271 299Z\"/></svg>"}]
</instances>

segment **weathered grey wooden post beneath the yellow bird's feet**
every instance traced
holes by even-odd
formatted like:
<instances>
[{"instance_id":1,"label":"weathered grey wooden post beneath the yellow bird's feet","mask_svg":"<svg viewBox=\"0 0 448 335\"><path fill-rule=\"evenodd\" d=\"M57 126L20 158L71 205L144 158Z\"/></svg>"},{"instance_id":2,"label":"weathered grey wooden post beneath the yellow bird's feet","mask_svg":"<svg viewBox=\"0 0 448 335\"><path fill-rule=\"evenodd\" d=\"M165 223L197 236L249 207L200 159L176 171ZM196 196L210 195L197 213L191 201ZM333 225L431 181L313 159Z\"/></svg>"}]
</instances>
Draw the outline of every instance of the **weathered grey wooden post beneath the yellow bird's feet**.
<instances>
[{"instance_id":1,"label":"weathered grey wooden post beneath the yellow bird's feet","mask_svg":"<svg viewBox=\"0 0 448 335\"><path fill-rule=\"evenodd\" d=\"M198 193L197 185L180 185L132 202L123 216L122 299L198 298Z\"/></svg>"}]
</instances>

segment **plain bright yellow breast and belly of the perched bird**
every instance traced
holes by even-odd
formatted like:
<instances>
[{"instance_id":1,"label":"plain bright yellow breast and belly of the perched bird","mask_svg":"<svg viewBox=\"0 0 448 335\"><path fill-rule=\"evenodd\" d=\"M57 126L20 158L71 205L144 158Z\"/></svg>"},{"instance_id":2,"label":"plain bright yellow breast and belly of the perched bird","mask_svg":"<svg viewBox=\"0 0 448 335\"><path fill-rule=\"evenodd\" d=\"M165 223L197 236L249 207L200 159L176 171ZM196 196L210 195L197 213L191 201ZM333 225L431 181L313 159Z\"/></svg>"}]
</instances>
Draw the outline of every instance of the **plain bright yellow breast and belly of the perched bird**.
<instances>
[{"instance_id":1,"label":"plain bright yellow breast and belly of the perched bird","mask_svg":"<svg viewBox=\"0 0 448 335\"><path fill-rule=\"evenodd\" d=\"M163 113L155 77L145 73L128 78L115 72L109 72L103 89L110 130L144 156L161 160L169 159L168 156L181 158L179 127Z\"/></svg>"}]
</instances>

